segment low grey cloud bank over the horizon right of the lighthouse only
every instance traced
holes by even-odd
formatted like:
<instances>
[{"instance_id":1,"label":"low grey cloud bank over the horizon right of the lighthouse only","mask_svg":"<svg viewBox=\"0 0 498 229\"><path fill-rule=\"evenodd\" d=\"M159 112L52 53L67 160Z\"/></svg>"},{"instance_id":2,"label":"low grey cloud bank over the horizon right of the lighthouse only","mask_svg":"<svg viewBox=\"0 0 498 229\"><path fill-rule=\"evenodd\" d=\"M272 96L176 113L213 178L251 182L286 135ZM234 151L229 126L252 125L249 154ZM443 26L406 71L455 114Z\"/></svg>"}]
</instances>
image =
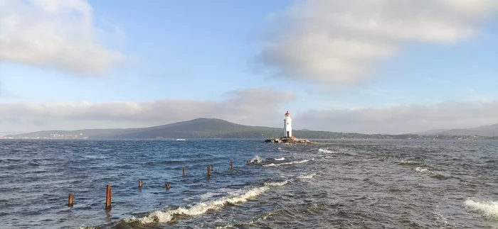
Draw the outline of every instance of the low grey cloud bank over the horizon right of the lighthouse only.
<instances>
[{"instance_id":1,"label":"low grey cloud bank over the horizon right of the lighthouse only","mask_svg":"<svg viewBox=\"0 0 498 229\"><path fill-rule=\"evenodd\" d=\"M475 128L498 123L498 100L434 106L378 106L312 110L295 116L298 128L357 133L417 133L432 129Z\"/></svg>"}]
</instances>

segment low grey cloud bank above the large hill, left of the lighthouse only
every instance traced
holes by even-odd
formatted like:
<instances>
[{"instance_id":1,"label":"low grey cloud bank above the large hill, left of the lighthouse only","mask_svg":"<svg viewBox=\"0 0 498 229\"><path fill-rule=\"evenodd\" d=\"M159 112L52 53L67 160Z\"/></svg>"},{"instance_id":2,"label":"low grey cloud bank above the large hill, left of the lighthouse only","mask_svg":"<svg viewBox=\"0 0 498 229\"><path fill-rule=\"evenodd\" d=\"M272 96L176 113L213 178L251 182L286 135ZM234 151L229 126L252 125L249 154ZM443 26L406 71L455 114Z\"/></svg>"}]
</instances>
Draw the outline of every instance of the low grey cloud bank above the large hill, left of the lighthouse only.
<instances>
[{"instance_id":1,"label":"low grey cloud bank above the large hill, left of the lighthouse only","mask_svg":"<svg viewBox=\"0 0 498 229\"><path fill-rule=\"evenodd\" d=\"M86 101L0 104L0 128L18 125L26 130L117 128L161 125L194 118L223 118L242 124L280 124L284 111L279 105L294 95L272 89L240 89L226 94L223 101L164 99L147 102ZM272 99L277 98L277 99ZM89 125L88 123L92 123ZM13 130L9 130L13 131Z\"/></svg>"}]
</instances>

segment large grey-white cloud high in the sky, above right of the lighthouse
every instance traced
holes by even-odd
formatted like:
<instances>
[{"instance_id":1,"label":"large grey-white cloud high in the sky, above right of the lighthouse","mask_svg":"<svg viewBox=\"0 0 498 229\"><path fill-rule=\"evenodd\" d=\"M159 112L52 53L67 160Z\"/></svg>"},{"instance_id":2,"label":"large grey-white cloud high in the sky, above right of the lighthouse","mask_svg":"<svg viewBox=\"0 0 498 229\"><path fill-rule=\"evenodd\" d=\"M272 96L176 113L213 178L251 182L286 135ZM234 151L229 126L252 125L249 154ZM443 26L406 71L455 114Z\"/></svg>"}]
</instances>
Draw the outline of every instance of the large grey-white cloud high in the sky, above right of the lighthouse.
<instances>
[{"instance_id":1,"label":"large grey-white cloud high in the sky, above right of the lighthouse","mask_svg":"<svg viewBox=\"0 0 498 229\"><path fill-rule=\"evenodd\" d=\"M358 82L403 43L457 43L498 10L494 0L310 0L270 16L257 62L281 77Z\"/></svg>"}]
</instances>

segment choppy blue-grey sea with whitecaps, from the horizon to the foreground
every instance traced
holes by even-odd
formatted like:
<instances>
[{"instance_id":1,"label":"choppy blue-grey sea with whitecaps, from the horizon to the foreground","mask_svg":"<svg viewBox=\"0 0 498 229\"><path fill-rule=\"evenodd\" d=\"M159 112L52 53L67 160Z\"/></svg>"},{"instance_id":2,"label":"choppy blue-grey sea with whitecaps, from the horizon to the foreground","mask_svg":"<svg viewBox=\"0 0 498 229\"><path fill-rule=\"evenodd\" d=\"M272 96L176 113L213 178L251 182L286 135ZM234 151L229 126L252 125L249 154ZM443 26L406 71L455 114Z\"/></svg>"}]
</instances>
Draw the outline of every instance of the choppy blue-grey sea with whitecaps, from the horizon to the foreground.
<instances>
[{"instance_id":1,"label":"choppy blue-grey sea with whitecaps, from the horizon to the foreground","mask_svg":"<svg viewBox=\"0 0 498 229\"><path fill-rule=\"evenodd\" d=\"M497 140L262 142L0 140L0 228L498 228Z\"/></svg>"}]
</instances>

